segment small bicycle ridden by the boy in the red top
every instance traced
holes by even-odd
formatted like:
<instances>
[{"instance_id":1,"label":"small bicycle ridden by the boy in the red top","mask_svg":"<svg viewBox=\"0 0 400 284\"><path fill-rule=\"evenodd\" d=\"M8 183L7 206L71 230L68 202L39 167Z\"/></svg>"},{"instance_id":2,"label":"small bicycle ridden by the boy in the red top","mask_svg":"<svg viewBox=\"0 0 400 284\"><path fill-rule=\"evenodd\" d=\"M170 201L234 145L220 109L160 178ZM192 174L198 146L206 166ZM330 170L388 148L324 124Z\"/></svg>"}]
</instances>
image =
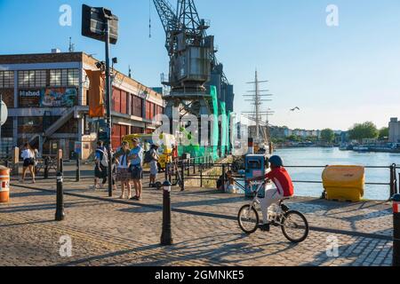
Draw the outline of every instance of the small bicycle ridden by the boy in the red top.
<instances>
[{"instance_id":1,"label":"small bicycle ridden by the boy in the red top","mask_svg":"<svg viewBox=\"0 0 400 284\"><path fill-rule=\"evenodd\" d=\"M254 198L250 204L244 205L237 215L240 228L247 234L255 233L259 228L260 217L256 206L260 204L260 189L264 189L267 182L264 180L261 183L251 183L250 186L252 185L258 185L257 190L253 191ZM275 209L273 206L268 209L268 221L270 225L280 226L287 240L300 243L308 237L308 220L299 211L291 210L284 204L284 201L289 199L284 198L277 203Z\"/></svg>"}]
</instances>

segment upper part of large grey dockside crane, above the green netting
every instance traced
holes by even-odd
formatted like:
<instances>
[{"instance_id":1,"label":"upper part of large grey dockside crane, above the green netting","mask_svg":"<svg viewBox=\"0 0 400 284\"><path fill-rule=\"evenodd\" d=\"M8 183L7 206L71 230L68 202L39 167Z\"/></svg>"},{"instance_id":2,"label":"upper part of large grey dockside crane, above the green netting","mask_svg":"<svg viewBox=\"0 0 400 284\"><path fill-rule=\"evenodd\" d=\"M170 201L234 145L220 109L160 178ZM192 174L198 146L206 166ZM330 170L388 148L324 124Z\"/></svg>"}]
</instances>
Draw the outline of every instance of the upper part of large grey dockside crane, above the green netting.
<instances>
[{"instance_id":1,"label":"upper part of large grey dockside crane, above the green netting","mask_svg":"<svg viewBox=\"0 0 400 284\"><path fill-rule=\"evenodd\" d=\"M197 117L212 114L207 91L210 85L217 87L219 99L232 100L227 108L233 111L233 86L215 57L214 37L206 34L210 25L200 19L194 0L178 0L176 11L167 0L153 3L164 27L165 48L170 57L169 80L163 82L171 88L164 95L165 114L172 117L172 109L178 107Z\"/></svg>"}]
</instances>

